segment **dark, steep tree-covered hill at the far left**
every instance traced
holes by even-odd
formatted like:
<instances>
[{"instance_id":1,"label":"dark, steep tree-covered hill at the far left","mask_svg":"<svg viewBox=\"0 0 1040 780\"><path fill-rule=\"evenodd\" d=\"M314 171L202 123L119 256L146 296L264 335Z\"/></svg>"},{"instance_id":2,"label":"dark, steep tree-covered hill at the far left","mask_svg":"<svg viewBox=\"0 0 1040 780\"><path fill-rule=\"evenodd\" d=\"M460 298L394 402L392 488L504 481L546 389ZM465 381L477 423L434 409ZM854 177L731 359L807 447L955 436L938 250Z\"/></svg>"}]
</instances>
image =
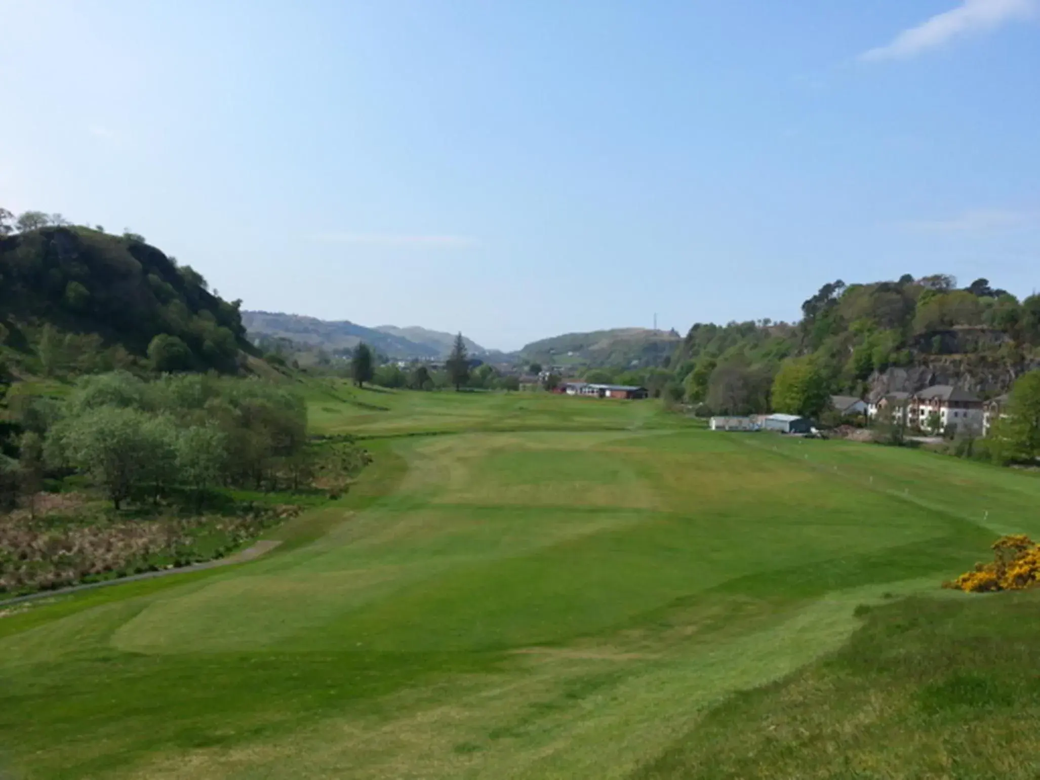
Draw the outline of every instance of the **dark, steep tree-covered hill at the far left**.
<instances>
[{"instance_id":1,"label":"dark, steep tree-covered hill at the far left","mask_svg":"<svg viewBox=\"0 0 1040 780\"><path fill-rule=\"evenodd\" d=\"M199 272L141 236L41 217L0 233L7 362L32 373L242 367L242 352L253 347L239 302L211 292Z\"/></svg>"}]
</instances>

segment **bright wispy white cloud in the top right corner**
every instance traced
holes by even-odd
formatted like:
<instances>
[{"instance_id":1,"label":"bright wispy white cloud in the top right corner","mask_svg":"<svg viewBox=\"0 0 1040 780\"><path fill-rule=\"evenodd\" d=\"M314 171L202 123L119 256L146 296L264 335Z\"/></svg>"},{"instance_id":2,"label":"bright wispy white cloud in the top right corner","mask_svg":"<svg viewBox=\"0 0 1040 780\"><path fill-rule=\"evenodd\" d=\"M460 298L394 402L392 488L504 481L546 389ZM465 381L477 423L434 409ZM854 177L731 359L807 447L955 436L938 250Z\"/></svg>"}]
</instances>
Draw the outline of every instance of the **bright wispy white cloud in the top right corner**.
<instances>
[{"instance_id":1,"label":"bright wispy white cloud in the top right corner","mask_svg":"<svg viewBox=\"0 0 1040 780\"><path fill-rule=\"evenodd\" d=\"M958 7L904 30L891 43L864 52L860 59L907 59L963 35L1029 19L1036 15L1037 5L1038 0L963 0Z\"/></svg>"}]
</instances>

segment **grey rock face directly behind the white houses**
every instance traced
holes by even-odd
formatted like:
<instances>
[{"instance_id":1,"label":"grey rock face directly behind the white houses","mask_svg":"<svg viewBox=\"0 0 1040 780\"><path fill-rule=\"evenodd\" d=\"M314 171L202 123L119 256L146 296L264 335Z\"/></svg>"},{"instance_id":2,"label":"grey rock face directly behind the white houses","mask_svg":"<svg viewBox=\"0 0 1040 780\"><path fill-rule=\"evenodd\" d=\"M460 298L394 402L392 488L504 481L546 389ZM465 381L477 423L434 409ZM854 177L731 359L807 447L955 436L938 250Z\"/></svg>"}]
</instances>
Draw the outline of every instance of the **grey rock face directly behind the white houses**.
<instances>
[{"instance_id":1,"label":"grey rock face directly behind the white houses","mask_svg":"<svg viewBox=\"0 0 1040 780\"><path fill-rule=\"evenodd\" d=\"M891 392L912 393L932 385L953 385L988 397L1007 392L1018 376L1035 368L1040 368L1040 360L1009 365L977 355L940 357L916 366L875 371L867 380L867 397L875 399Z\"/></svg>"}]
</instances>

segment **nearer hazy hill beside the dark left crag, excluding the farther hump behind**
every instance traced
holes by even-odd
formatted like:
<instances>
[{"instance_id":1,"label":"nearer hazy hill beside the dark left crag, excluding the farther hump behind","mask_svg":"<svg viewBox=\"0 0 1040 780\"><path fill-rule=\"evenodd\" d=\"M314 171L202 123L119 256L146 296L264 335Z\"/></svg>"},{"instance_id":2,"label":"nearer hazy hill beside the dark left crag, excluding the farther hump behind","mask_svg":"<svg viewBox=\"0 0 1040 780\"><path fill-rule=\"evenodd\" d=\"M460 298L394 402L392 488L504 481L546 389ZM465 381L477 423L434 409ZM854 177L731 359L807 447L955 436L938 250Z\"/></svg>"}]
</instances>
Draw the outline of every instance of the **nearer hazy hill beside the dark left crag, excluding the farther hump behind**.
<instances>
[{"instance_id":1,"label":"nearer hazy hill beside the dark left crag, excluding the farther hump behind","mask_svg":"<svg viewBox=\"0 0 1040 780\"><path fill-rule=\"evenodd\" d=\"M276 339L290 339L300 344L318 346L333 353L354 349L364 341L388 358L433 360L441 356L441 350L438 347L416 343L401 336L384 333L374 328L365 328L345 319L328 321L300 314L244 311L242 312L242 322L250 338L256 339L260 336L266 336Z\"/></svg>"}]
</instances>

